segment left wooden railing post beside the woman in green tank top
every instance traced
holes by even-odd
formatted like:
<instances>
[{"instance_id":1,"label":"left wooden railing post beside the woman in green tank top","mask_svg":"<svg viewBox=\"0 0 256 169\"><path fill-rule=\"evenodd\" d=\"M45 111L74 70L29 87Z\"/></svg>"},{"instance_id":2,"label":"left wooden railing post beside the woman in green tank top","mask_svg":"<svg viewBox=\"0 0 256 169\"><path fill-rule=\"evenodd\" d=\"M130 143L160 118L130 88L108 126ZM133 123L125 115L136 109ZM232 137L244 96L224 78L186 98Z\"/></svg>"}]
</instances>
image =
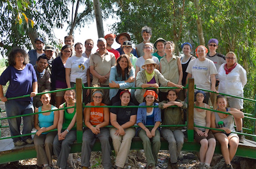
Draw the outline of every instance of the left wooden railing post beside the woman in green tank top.
<instances>
[{"instance_id":1,"label":"left wooden railing post beside the woman in green tank top","mask_svg":"<svg viewBox=\"0 0 256 169\"><path fill-rule=\"evenodd\" d=\"M76 78L76 129L77 143L83 140L83 85L82 78Z\"/></svg>"}]
</instances>

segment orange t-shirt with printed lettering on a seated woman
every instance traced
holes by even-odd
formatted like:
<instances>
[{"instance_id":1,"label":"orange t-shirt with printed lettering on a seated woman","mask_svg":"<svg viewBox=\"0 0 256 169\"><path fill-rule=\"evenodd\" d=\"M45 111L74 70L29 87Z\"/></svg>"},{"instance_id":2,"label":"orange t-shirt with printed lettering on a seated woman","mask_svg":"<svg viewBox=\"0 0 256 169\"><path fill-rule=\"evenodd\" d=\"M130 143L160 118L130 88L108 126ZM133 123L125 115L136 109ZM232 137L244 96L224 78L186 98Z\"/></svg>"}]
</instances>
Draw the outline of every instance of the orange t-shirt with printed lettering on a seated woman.
<instances>
[{"instance_id":1,"label":"orange t-shirt with printed lettering on a seated woman","mask_svg":"<svg viewBox=\"0 0 256 169\"><path fill-rule=\"evenodd\" d=\"M95 106L93 102L91 102L92 106ZM105 106L104 103L100 103L100 106ZM104 122L104 108L103 107L91 107L90 112L90 123L92 125L98 125Z\"/></svg>"}]
</instances>

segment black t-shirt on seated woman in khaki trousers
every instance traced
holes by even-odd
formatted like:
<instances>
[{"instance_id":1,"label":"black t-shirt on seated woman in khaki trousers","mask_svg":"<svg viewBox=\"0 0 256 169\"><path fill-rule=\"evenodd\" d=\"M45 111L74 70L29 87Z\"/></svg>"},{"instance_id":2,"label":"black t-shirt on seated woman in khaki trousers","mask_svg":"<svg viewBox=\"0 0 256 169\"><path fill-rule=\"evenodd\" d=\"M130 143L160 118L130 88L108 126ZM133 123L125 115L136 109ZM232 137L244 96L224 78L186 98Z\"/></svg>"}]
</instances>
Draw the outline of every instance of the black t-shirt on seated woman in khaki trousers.
<instances>
[{"instance_id":1,"label":"black t-shirt on seated woman in khaki trousers","mask_svg":"<svg viewBox=\"0 0 256 169\"><path fill-rule=\"evenodd\" d=\"M121 106L121 101L116 102L113 106ZM129 103L128 106L134 106L133 103ZM116 121L120 126L125 124L126 122L130 121L131 115L136 115L137 114L137 108L115 108L112 107L110 109L110 112L113 114L116 114Z\"/></svg>"}]
</instances>

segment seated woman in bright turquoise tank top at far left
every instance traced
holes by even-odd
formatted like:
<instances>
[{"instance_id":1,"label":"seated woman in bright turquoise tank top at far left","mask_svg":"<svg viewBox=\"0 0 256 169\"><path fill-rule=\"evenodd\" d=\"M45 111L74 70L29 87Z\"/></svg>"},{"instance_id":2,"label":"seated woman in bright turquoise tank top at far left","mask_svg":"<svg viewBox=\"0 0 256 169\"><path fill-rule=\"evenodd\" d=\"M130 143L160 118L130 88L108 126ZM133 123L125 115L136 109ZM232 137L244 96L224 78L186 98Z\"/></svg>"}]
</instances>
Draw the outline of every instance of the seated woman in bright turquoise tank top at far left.
<instances>
[{"instance_id":1,"label":"seated woman in bright turquoise tank top at far left","mask_svg":"<svg viewBox=\"0 0 256 169\"><path fill-rule=\"evenodd\" d=\"M48 92L47 90L43 92ZM57 108L50 104L51 94L42 94L40 101L42 107L38 107L35 113L52 110L51 112L45 112L42 114L35 114L34 124L37 129L34 144L36 149L36 165L43 166L43 169L51 169L52 165L52 145L56 131L50 131L57 128L59 120L59 111L54 111ZM47 132L50 131L50 132Z\"/></svg>"}]
</instances>

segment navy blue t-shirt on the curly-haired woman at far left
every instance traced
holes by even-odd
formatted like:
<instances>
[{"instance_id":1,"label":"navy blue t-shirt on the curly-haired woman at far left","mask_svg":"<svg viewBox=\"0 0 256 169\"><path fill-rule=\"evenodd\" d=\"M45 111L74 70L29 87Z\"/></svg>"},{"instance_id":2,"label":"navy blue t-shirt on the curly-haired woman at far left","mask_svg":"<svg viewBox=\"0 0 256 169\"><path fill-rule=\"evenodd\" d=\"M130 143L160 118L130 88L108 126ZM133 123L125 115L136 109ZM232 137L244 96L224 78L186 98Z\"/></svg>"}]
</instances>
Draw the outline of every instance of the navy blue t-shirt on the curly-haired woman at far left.
<instances>
[{"instance_id":1,"label":"navy blue t-shirt on the curly-haired woman at far left","mask_svg":"<svg viewBox=\"0 0 256 169\"><path fill-rule=\"evenodd\" d=\"M6 98L13 98L30 94L33 91L32 85L37 82L36 71L32 64L26 64L24 70L17 70L13 66L8 66L0 77L0 84L6 85L10 81L10 85L6 92ZM33 101L33 98L20 98L17 101Z\"/></svg>"}]
</instances>

